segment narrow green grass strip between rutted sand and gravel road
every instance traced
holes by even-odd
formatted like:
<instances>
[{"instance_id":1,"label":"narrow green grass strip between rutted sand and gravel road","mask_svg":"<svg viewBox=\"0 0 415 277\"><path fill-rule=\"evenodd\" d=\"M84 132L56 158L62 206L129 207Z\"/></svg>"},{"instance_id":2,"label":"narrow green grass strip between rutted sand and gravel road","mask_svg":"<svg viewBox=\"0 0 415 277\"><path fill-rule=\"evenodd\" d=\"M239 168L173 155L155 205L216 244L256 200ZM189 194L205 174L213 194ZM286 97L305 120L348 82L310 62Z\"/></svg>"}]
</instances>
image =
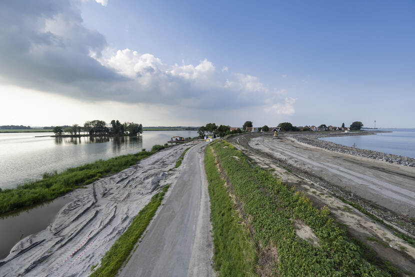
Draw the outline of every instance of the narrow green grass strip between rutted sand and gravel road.
<instances>
[{"instance_id":1,"label":"narrow green grass strip between rutted sand and gravel road","mask_svg":"<svg viewBox=\"0 0 415 277\"><path fill-rule=\"evenodd\" d=\"M122 263L129 256L135 243L141 237L147 228L150 220L154 216L158 206L169 185L164 186L160 192L151 197L150 202L146 204L136 216L132 219L128 228L115 240L111 248L106 251L102 257L99 267L97 267L89 277L112 277L118 272Z\"/></svg>"}]
</instances>

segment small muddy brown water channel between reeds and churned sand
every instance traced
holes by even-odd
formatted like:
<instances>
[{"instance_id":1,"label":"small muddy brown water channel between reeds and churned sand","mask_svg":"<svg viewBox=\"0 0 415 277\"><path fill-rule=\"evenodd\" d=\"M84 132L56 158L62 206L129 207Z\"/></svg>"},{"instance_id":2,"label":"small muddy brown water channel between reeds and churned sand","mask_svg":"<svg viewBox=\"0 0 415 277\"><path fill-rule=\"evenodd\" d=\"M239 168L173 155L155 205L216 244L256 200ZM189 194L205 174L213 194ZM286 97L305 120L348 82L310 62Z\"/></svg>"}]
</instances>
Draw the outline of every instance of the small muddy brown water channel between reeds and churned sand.
<instances>
[{"instance_id":1,"label":"small muddy brown water channel between reeds and churned sand","mask_svg":"<svg viewBox=\"0 0 415 277\"><path fill-rule=\"evenodd\" d=\"M23 237L41 231L49 225L57 212L72 199L62 196L34 207L0 216L0 259Z\"/></svg>"}]
</instances>

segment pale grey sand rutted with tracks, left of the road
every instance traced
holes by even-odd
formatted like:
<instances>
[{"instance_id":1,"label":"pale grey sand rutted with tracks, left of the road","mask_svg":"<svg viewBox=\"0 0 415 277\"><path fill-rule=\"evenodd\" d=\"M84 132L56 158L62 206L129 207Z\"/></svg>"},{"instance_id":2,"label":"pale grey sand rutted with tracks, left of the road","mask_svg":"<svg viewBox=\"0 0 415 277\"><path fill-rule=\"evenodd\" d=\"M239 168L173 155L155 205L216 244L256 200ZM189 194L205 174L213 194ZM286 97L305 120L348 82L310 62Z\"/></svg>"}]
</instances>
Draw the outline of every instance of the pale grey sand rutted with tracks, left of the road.
<instances>
[{"instance_id":1,"label":"pale grey sand rutted with tracks, left of the road","mask_svg":"<svg viewBox=\"0 0 415 277\"><path fill-rule=\"evenodd\" d=\"M190 145L161 150L69 193L74 200L46 229L20 240L0 260L0 276L87 276L151 196L165 184L174 186L180 167L167 170Z\"/></svg>"}]
</instances>

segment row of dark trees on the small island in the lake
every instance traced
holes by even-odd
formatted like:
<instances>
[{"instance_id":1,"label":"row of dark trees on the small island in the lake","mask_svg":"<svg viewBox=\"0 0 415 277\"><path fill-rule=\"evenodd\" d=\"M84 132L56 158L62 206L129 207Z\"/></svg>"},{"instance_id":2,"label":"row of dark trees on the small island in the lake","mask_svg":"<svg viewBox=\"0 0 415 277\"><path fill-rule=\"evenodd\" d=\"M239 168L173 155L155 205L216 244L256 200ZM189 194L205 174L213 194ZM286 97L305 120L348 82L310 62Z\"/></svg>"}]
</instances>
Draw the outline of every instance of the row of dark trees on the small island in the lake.
<instances>
[{"instance_id":1,"label":"row of dark trees on the small island in the lake","mask_svg":"<svg viewBox=\"0 0 415 277\"><path fill-rule=\"evenodd\" d=\"M68 126L66 128L62 128L61 126L53 127L53 133L55 133L56 136L62 136L63 133L66 133L70 136L76 136L76 134L80 136L80 132L87 132L91 136L139 136L142 134L142 124L134 122L121 123L119 120L111 120L111 123L107 125L103 120L91 120L86 121L83 126L73 124L72 126Z\"/></svg>"}]
</instances>

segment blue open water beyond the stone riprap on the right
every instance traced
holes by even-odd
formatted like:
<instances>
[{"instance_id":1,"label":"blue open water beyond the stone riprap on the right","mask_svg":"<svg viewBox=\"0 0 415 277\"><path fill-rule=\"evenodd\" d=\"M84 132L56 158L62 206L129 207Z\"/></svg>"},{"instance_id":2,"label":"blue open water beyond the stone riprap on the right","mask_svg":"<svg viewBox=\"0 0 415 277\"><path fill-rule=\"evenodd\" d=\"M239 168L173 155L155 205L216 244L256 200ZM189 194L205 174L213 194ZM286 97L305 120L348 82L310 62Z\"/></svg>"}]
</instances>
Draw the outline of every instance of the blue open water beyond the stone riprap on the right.
<instances>
[{"instance_id":1,"label":"blue open water beyond the stone riprap on the right","mask_svg":"<svg viewBox=\"0 0 415 277\"><path fill-rule=\"evenodd\" d=\"M415 129L378 129L392 131L371 136L327 137L321 140L331 141L345 146L374 150L388 154L415 158Z\"/></svg>"}]
</instances>

